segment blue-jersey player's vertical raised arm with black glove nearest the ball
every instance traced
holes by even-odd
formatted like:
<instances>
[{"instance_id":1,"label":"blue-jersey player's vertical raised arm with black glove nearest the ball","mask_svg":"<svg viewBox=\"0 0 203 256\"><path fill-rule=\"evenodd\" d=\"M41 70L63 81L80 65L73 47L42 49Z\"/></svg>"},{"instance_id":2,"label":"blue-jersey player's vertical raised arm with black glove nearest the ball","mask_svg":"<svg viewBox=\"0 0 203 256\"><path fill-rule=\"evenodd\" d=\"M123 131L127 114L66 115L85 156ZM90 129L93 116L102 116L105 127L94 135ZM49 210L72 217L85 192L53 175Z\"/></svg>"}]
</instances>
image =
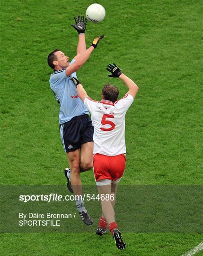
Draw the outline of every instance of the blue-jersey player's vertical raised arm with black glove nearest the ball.
<instances>
[{"instance_id":1,"label":"blue-jersey player's vertical raised arm with black glove nearest the ball","mask_svg":"<svg viewBox=\"0 0 203 256\"><path fill-rule=\"evenodd\" d=\"M72 27L78 32L78 46L77 46L77 55L74 57L76 60L78 55L86 51L86 43L85 43L85 29L87 24L87 18L84 20L84 16L80 15L78 17L74 17L75 24L71 24Z\"/></svg>"}]
</instances>

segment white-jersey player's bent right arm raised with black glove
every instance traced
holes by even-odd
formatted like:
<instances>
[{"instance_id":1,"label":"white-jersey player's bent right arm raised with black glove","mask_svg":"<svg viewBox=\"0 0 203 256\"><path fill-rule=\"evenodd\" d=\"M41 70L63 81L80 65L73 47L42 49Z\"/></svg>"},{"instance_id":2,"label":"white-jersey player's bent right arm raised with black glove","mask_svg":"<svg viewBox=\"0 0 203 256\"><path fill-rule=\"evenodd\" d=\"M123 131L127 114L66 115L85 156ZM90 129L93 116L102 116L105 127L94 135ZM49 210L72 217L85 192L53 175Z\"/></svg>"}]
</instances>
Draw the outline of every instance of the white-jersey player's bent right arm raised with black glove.
<instances>
[{"instance_id":1,"label":"white-jersey player's bent right arm raised with black glove","mask_svg":"<svg viewBox=\"0 0 203 256\"><path fill-rule=\"evenodd\" d=\"M126 76L115 63L108 64L106 70L111 73L110 75L108 75L109 77L119 77L129 89L127 93L135 98L139 89L135 82L133 82L128 76Z\"/></svg>"}]
</instances>

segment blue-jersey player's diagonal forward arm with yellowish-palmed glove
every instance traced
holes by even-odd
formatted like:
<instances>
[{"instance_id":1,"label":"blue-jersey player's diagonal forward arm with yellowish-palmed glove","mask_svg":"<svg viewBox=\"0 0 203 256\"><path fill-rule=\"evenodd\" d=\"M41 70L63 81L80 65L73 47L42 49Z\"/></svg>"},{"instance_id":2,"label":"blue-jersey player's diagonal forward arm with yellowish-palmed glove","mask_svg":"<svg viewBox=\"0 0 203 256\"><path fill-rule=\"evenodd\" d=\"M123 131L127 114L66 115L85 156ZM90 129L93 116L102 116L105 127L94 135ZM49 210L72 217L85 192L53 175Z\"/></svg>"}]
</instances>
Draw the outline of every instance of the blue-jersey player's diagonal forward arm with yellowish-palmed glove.
<instances>
[{"instance_id":1,"label":"blue-jersey player's diagonal forward arm with yellowish-palmed glove","mask_svg":"<svg viewBox=\"0 0 203 256\"><path fill-rule=\"evenodd\" d=\"M66 68L66 76L70 76L72 73L76 72L77 70L79 70L79 68L86 63L86 61L88 60L89 56L91 55L91 53L93 52L93 50L95 48L97 48L97 45L99 43L99 41L104 38L104 36L100 36L97 37L93 40L91 46L84 52L81 53L80 55L78 55L76 61L68 66Z\"/></svg>"}]
</instances>

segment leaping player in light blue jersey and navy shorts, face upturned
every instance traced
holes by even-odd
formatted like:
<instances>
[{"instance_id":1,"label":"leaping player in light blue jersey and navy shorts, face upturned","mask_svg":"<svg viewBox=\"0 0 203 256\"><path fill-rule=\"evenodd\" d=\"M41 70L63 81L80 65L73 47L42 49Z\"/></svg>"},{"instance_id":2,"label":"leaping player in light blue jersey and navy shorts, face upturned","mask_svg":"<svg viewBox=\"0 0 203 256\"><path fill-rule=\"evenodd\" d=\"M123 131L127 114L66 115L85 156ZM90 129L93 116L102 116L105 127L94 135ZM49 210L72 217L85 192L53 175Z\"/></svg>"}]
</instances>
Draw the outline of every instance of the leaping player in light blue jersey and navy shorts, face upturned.
<instances>
[{"instance_id":1,"label":"leaping player in light blue jersey and navy shorts, face upturned","mask_svg":"<svg viewBox=\"0 0 203 256\"><path fill-rule=\"evenodd\" d=\"M80 172L92 168L93 152L93 125L89 118L88 109L79 99L77 90L70 77L76 77L76 71L86 63L99 40L104 36L93 40L91 46L86 49L85 29L87 19L74 17L76 24L71 24L79 33L77 55L71 63L69 57L61 50L55 49L48 55L48 65L53 69L50 77L50 87L60 106L59 124L63 149L67 154L70 169L66 168L64 174L67 178L69 191L77 195L76 205L82 221L92 225L93 220L85 209L82 201L82 185ZM71 181L71 182L70 182Z\"/></svg>"}]
</instances>

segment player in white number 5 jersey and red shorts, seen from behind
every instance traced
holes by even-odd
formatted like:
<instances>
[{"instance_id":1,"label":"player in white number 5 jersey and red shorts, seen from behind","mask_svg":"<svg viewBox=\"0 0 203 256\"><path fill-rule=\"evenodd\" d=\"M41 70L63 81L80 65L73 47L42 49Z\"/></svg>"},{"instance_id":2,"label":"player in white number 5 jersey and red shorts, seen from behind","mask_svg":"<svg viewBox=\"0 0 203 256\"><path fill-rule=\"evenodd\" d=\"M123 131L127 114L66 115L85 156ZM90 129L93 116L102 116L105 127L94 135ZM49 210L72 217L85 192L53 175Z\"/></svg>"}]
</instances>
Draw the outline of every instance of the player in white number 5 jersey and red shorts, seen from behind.
<instances>
[{"instance_id":1,"label":"player in white number 5 jersey and red shorts, seen from behind","mask_svg":"<svg viewBox=\"0 0 203 256\"><path fill-rule=\"evenodd\" d=\"M94 126L93 169L98 192L105 195L105 200L101 200L102 215L96 233L100 236L105 234L108 225L116 246L123 250L126 244L115 222L114 206L117 185L124 174L126 162L125 114L137 94L138 86L116 64L109 64L107 70L111 73L109 77L119 77L128 88L120 100L117 100L118 89L111 84L106 84L102 89L102 100L94 101L88 97L77 78L71 79L77 87L79 98L91 113Z\"/></svg>"}]
</instances>

